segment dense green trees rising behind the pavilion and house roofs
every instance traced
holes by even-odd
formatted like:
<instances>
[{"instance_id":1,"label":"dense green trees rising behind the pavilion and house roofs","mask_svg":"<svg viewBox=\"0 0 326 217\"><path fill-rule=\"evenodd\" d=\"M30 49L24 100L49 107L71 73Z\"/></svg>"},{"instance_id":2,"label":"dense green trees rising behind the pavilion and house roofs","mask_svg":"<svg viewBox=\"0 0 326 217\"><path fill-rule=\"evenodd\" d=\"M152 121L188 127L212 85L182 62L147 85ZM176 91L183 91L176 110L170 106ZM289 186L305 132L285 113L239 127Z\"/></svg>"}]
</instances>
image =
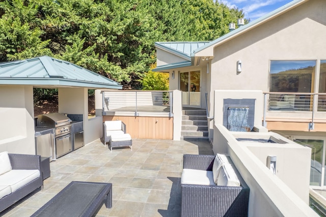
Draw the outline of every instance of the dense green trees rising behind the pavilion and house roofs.
<instances>
[{"instance_id":1,"label":"dense green trees rising behind the pavilion and house roofs","mask_svg":"<svg viewBox=\"0 0 326 217\"><path fill-rule=\"evenodd\" d=\"M0 61L48 55L139 88L155 41L214 40L240 17L212 0L0 0Z\"/></svg>"}]
</instances>

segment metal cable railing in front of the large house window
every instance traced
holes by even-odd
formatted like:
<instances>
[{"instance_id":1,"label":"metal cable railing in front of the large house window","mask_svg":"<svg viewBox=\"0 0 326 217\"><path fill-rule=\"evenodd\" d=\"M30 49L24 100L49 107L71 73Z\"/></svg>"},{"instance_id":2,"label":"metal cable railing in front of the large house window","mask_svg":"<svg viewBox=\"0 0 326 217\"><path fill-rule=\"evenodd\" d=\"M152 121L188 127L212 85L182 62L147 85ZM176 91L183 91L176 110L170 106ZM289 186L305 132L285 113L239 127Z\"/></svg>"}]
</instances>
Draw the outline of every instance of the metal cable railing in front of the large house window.
<instances>
[{"instance_id":1,"label":"metal cable railing in front of the large house window","mask_svg":"<svg viewBox=\"0 0 326 217\"><path fill-rule=\"evenodd\" d=\"M314 127L316 113L326 112L326 93L263 93L264 117L263 125L266 126L266 113L304 112L311 113L309 129Z\"/></svg>"}]
</instances>

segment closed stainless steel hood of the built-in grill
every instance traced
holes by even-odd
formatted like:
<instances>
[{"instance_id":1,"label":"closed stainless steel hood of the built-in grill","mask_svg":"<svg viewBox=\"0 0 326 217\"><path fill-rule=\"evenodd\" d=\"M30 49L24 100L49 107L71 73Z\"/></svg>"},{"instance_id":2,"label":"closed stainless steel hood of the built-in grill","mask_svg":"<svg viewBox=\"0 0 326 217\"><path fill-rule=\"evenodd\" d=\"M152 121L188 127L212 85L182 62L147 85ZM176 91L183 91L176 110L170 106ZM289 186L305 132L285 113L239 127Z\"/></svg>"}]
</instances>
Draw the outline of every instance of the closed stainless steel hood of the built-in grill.
<instances>
[{"instance_id":1,"label":"closed stainless steel hood of the built-in grill","mask_svg":"<svg viewBox=\"0 0 326 217\"><path fill-rule=\"evenodd\" d=\"M61 113L49 113L37 116L37 126L58 127L70 123L71 120Z\"/></svg>"}]
</instances>

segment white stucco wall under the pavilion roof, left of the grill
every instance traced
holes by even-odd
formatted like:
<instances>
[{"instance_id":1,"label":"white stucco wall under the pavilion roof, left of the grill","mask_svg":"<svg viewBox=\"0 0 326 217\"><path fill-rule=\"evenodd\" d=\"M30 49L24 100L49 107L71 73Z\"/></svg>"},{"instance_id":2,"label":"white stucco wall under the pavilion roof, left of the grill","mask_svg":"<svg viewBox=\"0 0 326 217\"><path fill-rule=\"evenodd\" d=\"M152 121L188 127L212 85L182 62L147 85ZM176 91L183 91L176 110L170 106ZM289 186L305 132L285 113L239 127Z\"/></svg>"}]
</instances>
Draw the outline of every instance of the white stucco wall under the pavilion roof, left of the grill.
<instances>
[{"instance_id":1,"label":"white stucco wall under the pavilion roof, left of the grill","mask_svg":"<svg viewBox=\"0 0 326 217\"><path fill-rule=\"evenodd\" d=\"M0 86L0 152L35 154L33 86Z\"/></svg>"}]
</instances>

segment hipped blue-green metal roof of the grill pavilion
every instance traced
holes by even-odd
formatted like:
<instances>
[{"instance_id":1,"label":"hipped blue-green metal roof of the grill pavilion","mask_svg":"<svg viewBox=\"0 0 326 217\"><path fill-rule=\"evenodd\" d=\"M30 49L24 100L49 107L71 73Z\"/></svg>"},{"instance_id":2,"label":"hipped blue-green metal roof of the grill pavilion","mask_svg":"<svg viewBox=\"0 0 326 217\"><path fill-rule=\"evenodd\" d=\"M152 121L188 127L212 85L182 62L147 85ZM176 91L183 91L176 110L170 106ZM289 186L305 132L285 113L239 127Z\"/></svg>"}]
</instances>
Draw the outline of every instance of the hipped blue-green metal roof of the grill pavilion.
<instances>
[{"instance_id":1,"label":"hipped blue-green metal roof of the grill pavilion","mask_svg":"<svg viewBox=\"0 0 326 217\"><path fill-rule=\"evenodd\" d=\"M47 56L0 63L0 84L122 89L114 80Z\"/></svg>"}]
</instances>

